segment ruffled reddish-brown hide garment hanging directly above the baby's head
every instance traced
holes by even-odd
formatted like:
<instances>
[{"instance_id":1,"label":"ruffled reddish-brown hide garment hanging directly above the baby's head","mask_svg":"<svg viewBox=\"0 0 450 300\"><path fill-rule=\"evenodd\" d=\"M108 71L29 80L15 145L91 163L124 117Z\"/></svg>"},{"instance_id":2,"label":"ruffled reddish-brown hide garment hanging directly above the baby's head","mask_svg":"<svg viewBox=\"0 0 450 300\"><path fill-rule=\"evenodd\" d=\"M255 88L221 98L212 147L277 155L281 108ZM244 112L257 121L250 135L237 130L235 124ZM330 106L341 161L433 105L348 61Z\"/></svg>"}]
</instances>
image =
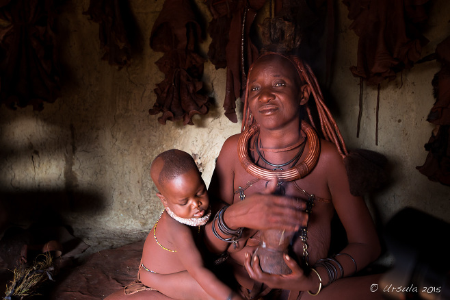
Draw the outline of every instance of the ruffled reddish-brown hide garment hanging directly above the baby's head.
<instances>
[{"instance_id":1,"label":"ruffled reddish-brown hide garment hanging directly above the baby's head","mask_svg":"<svg viewBox=\"0 0 450 300\"><path fill-rule=\"evenodd\" d=\"M183 120L194 125L194 114L207 114L209 97L202 95L204 59L196 46L201 28L187 0L166 0L150 35L150 47L164 55L155 64L166 77L157 84L157 100L150 114L163 113L159 123Z\"/></svg>"}]
</instances>

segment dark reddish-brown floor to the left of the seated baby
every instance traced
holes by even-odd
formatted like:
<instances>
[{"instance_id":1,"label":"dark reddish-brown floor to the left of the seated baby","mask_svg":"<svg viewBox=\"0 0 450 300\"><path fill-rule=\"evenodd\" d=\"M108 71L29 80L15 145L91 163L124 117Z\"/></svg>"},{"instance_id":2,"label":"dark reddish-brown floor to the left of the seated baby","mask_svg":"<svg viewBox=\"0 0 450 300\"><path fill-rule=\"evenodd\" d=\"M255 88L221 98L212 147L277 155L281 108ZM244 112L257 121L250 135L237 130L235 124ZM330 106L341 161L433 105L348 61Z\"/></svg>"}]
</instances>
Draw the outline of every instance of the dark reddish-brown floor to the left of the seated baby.
<instances>
[{"instance_id":1,"label":"dark reddish-brown floor to the left of the seated baby","mask_svg":"<svg viewBox=\"0 0 450 300\"><path fill-rule=\"evenodd\" d=\"M48 244L50 236L54 240ZM45 277L47 280L36 290L40 295L25 299L103 299L133 282L142 256L144 240L107 249L117 243L114 238L104 237L89 246L64 227L11 227L0 240L0 295L5 295L7 285L12 286L16 266L34 266L35 260L43 258L42 248L50 247L54 270L49 274L53 281Z\"/></svg>"}]
</instances>

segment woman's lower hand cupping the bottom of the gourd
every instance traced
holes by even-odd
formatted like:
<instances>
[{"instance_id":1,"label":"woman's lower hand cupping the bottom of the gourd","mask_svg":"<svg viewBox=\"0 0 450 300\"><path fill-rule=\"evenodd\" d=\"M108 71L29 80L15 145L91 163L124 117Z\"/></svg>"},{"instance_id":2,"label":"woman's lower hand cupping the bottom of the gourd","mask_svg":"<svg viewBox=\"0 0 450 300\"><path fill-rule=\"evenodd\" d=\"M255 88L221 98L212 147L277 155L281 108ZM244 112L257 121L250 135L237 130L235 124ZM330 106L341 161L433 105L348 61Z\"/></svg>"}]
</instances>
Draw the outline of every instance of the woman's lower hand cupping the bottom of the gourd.
<instances>
[{"instance_id":1,"label":"woman's lower hand cupping the bottom of the gourd","mask_svg":"<svg viewBox=\"0 0 450 300\"><path fill-rule=\"evenodd\" d=\"M304 274L304 271L297 262L289 257L289 255L283 255L284 262L291 269L292 273L288 275L275 275L264 273L259 264L258 256L253 259L252 265L252 254L246 253L246 260L244 265L246 266L248 275L256 282L263 282L267 284L270 288L280 288L282 290L317 290L319 283L315 282L313 273L309 276Z\"/></svg>"}]
</instances>

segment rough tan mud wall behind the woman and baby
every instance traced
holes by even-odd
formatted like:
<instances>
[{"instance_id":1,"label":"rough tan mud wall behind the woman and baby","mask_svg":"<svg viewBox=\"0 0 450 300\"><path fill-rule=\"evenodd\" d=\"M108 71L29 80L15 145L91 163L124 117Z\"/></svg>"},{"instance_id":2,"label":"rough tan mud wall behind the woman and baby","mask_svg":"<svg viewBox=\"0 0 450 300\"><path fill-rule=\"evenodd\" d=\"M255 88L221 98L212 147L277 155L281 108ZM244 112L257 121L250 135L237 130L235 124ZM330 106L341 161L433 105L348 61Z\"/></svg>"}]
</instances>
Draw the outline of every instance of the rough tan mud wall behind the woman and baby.
<instances>
[{"instance_id":1,"label":"rough tan mud wall behind the woman and baby","mask_svg":"<svg viewBox=\"0 0 450 300\"><path fill-rule=\"evenodd\" d=\"M211 18L203 1L195 1L206 21ZM66 1L59 8L57 36L62 62L62 97L31 108L0 107L1 229L11 224L64 223L92 247L107 248L143 238L155 223L162 205L155 196L150 162L166 149L197 155L209 184L224 140L241 124L224 116L222 103L226 71L204 64L204 82L215 99L194 126L161 125L148 109L155 102L153 88L163 74L155 62L161 57L148 47L150 32L163 1L130 1L136 21L137 51L131 66L118 70L101 60L98 24L83 12L89 1ZM349 67L356 64L358 38L348 29L347 8L338 2L334 74L330 93L336 120L349 147L384 153L390 161L392 182L367 197L374 218L384 223L405 206L413 206L450 221L449 187L430 182L416 171L427 152L432 125L432 77L439 70L427 62L404 71L402 78L382 84L379 142L375 145L376 88L363 90L361 133L356 138L359 80ZM435 1L423 55L434 52L450 35L450 3ZM210 38L202 43L205 55ZM241 118L238 103L238 119Z\"/></svg>"}]
</instances>

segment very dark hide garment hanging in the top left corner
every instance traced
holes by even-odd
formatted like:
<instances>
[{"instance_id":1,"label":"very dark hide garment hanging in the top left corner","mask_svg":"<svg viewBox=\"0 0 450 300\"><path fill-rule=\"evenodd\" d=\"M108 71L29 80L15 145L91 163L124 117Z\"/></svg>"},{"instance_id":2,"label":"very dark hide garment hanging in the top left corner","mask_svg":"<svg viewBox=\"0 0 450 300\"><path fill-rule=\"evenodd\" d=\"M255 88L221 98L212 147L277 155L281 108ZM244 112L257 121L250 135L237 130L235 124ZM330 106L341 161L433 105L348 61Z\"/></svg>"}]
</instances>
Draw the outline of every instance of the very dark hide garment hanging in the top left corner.
<instances>
[{"instance_id":1,"label":"very dark hide garment hanging in the top left corner","mask_svg":"<svg viewBox=\"0 0 450 300\"><path fill-rule=\"evenodd\" d=\"M0 2L0 103L42 110L60 96L53 0Z\"/></svg>"}]
</instances>

